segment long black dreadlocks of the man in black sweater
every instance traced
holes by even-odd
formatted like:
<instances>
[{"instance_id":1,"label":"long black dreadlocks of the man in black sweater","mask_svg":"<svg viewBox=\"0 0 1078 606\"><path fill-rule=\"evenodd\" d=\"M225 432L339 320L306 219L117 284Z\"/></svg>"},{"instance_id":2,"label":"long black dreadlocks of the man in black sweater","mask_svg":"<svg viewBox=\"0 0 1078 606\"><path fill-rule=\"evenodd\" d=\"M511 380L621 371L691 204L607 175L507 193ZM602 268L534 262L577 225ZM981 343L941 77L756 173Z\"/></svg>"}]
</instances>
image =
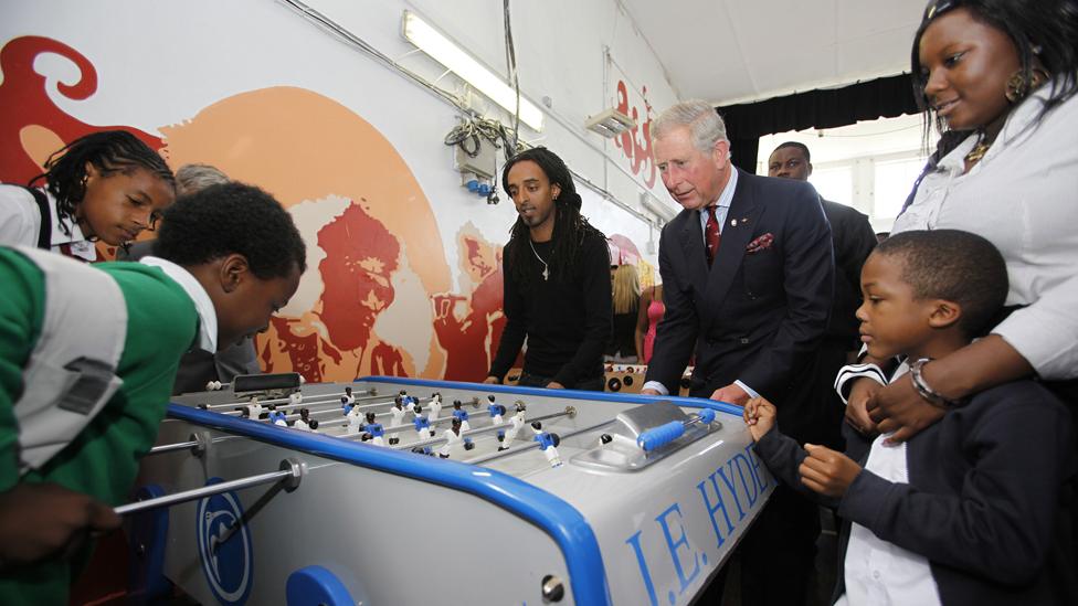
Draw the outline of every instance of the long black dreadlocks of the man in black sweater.
<instances>
[{"instance_id":1,"label":"long black dreadlocks of the man in black sweater","mask_svg":"<svg viewBox=\"0 0 1078 606\"><path fill-rule=\"evenodd\" d=\"M501 170L501 187L509 191L509 170L519 162L535 162L547 176L551 185L558 185L561 193L554 200L554 231L553 247L548 265L550 273L556 276L568 276L573 269L577 253L580 252L584 240L591 236L606 238L580 214L581 199L573 184L569 167L554 152L545 147L536 147L517 153L506 162ZM531 252L531 231L524 220L517 221L509 228L509 243L505 247L505 264L512 278L525 289L538 279L542 270L539 259Z\"/></svg>"}]
</instances>

